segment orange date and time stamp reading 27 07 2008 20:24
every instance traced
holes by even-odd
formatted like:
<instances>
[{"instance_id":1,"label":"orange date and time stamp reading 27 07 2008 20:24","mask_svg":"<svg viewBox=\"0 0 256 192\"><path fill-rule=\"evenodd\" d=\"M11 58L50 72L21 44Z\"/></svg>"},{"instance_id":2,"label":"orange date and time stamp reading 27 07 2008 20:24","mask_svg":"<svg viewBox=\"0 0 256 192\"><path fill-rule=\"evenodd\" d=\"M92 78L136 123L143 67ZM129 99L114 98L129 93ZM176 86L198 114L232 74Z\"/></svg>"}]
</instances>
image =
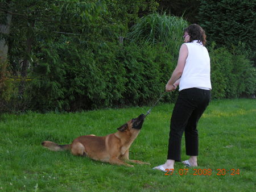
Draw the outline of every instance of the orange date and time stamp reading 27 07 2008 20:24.
<instances>
[{"instance_id":1,"label":"orange date and time stamp reading 27 07 2008 20:24","mask_svg":"<svg viewBox=\"0 0 256 192\"><path fill-rule=\"evenodd\" d=\"M193 176L239 176L240 170L239 169L193 169L193 173L189 172L189 169L179 169L177 172L174 169L165 169L166 173L165 176L172 176L172 175L180 175L180 176L187 176L188 174L192 174Z\"/></svg>"}]
</instances>

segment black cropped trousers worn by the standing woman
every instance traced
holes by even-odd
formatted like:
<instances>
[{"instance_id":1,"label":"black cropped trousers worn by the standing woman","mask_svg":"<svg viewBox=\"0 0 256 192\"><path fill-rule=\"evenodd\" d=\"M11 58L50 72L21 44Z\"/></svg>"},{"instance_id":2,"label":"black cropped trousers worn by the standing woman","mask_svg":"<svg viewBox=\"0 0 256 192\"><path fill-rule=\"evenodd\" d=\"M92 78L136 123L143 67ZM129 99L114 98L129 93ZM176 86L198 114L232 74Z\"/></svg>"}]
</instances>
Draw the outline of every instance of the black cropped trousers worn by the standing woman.
<instances>
[{"instance_id":1,"label":"black cropped trousers worn by the standing woman","mask_svg":"<svg viewBox=\"0 0 256 192\"><path fill-rule=\"evenodd\" d=\"M185 131L185 148L189 156L197 156L199 141L197 123L210 102L210 90L181 90L172 111L167 159L181 161L181 138Z\"/></svg>"}]
</instances>

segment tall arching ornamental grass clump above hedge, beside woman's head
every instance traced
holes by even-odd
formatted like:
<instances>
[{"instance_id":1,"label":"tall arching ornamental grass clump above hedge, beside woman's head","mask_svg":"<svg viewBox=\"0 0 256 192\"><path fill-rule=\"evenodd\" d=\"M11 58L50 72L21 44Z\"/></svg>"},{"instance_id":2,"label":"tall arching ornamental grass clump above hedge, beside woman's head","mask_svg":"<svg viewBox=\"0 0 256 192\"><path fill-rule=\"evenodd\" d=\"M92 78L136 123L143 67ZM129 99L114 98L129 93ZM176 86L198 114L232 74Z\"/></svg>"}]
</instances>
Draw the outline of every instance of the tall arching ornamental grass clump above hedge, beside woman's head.
<instances>
[{"instance_id":1,"label":"tall arching ornamental grass clump above hedge, beside woman's head","mask_svg":"<svg viewBox=\"0 0 256 192\"><path fill-rule=\"evenodd\" d=\"M131 27L127 39L139 45L145 42L163 44L168 51L172 51L172 54L177 56L183 42L183 30L187 26L187 21L177 16L166 15L166 13L149 14Z\"/></svg>"}]
</instances>

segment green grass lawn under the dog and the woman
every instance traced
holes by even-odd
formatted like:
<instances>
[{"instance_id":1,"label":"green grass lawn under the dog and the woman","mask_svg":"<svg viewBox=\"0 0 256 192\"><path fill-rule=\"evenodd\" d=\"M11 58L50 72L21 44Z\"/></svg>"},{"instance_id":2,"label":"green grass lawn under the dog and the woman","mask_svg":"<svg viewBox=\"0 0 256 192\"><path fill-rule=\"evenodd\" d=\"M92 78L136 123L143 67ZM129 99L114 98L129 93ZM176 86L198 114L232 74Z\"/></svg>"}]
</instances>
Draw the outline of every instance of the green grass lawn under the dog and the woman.
<instances>
[{"instance_id":1,"label":"green grass lawn under the dog and the woman","mask_svg":"<svg viewBox=\"0 0 256 192\"><path fill-rule=\"evenodd\" d=\"M72 156L69 151L52 152L40 143L70 144L80 135L104 136L149 107L3 114L0 191L254 191L256 100L212 101L198 126L199 166L186 170L176 162L174 173L165 176L152 167L166 161L173 107L158 105L147 116L130 158L151 165L133 164L134 168ZM188 158L184 139L181 157Z\"/></svg>"}]
</instances>

